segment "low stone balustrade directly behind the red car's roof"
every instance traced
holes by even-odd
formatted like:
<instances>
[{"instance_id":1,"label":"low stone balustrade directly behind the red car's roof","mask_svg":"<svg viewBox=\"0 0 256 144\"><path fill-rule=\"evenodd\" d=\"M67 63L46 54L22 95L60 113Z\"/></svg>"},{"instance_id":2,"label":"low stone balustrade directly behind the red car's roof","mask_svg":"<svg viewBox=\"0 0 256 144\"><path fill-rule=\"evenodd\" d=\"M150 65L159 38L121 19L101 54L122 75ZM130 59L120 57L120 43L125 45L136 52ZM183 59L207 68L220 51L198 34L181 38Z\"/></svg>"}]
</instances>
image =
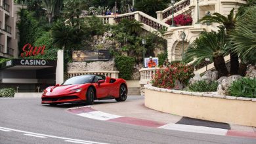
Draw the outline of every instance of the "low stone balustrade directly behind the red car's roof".
<instances>
[{"instance_id":1,"label":"low stone balustrade directly behind the red car's roof","mask_svg":"<svg viewBox=\"0 0 256 144\"><path fill-rule=\"evenodd\" d=\"M79 75L104 75L106 77L118 78L119 71L68 71L68 78Z\"/></svg>"}]
</instances>

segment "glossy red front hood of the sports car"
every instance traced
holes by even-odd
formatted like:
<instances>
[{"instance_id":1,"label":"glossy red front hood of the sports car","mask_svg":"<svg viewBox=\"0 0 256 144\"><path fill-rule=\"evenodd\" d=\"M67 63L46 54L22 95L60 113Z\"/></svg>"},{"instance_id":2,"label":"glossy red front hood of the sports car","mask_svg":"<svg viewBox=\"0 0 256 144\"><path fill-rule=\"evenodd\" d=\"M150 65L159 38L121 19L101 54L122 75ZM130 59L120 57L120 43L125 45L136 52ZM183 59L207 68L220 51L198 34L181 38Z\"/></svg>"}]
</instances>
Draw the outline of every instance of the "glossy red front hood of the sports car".
<instances>
[{"instance_id":1,"label":"glossy red front hood of the sports car","mask_svg":"<svg viewBox=\"0 0 256 144\"><path fill-rule=\"evenodd\" d=\"M71 94L74 93L75 89L82 88L84 84L72 84L72 85L60 85L60 86L50 86L44 91L44 95L46 96L56 96L63 94Z\"/></svg>"}]
</instances>

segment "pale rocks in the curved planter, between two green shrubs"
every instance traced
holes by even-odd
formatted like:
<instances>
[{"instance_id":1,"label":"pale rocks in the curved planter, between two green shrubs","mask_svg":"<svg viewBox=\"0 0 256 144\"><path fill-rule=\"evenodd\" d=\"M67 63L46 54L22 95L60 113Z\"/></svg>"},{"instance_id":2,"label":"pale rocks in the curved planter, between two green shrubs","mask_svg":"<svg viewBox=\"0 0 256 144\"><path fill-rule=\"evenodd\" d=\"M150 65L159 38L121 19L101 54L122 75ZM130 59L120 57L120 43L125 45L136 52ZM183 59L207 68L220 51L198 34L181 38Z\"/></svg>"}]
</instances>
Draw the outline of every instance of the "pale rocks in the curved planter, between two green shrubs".
<instances>
[{"instance_id":1,"label":"pale rocks in the curved planter, between two green shrubs","mask_svg":"<svg viewBox=\"0 0 256 144\"><path fill-rule=\"evenodd\" d=\"M241 79L241 75L231 75L230 77L221 77L217 80L219 83L219 86L217 88L217 94L220 95L228 95L228 87L231 86L233 81L236 81L237 79Z\"/></svg>"}]
</instances>

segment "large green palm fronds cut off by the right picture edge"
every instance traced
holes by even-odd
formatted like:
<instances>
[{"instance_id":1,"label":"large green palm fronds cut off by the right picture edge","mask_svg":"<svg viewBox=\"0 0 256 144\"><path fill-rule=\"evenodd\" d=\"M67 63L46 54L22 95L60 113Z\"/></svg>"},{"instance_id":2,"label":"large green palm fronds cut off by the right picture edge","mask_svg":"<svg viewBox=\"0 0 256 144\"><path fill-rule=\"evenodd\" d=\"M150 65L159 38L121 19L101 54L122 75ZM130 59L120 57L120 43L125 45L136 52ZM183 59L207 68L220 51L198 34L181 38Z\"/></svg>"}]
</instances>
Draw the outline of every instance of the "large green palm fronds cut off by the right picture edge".
<instances>
[{"instance_id":1,"label":"large green palm fronds cut off by the right picture edge","mask_svg":"<svg viewBox=\"0 0 256 144\"><path fill-rule=\"evenodd\" d=\"M236 28L230 33L230 39L234 44L234 50L240 54L240 58L249 64L256 63L256 7L245 10L239 19Z\"/></svg>"}]
</instances>

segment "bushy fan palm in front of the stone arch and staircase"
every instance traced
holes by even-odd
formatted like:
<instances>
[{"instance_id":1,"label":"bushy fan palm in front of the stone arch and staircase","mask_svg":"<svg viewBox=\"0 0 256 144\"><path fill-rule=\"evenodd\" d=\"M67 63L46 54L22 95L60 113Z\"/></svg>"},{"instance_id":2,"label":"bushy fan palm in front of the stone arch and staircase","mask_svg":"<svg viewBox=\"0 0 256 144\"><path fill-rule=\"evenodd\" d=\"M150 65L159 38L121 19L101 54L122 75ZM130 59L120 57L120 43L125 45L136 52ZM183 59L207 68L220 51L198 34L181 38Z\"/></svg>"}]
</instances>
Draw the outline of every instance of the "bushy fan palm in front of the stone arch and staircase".
<instances>
[{"instance_id":1,"label":"bushy fan palm in front of the stone arch and staircase","mask_svg":"<svg viewBox=\"0 0 256 144\"><path fill-rule=\"evenodd\" d=\"M215 69L219 73L219 77L228 75L228 70L224 62L224 54L226 48L230 45L226 43L226 34L224 27L221 27L219 33L203 32L192 45L189 46L185 53L185 62L196 58L194 64L198 65L203 62L205 58L209 58L214 63Z\"/></svg>"}]
</instances>

